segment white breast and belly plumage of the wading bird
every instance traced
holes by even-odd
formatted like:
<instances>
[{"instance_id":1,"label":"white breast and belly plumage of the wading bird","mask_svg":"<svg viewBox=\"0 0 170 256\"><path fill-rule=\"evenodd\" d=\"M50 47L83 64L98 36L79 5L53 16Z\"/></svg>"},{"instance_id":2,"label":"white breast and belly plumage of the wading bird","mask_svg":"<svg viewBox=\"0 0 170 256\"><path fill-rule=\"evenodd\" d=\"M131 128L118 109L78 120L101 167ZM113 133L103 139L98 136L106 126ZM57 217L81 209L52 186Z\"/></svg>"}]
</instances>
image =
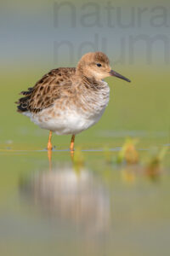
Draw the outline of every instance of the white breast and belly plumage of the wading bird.
<instances>
[{"instance_id":1,"label":"white breast and belly plumage of the wading bird","mask_svg":"<svg viewBox=\"0 0 170 256\"><path fill-rule=\"evenodd\" d=\"M103 82L105 83L105 82ZM94 95L95 94L95 95ZM59 109L58 115L51 117L48 110L44 109L41 113L25 113L36 125L43 129L54 131L58 135L74 134L87 130L90 126L99 121L109 102L110 88L105 83L104 89L93 92L81 97L82 104L85 104L87 111L77 106Z\"/></svg>"}]
</instances>

